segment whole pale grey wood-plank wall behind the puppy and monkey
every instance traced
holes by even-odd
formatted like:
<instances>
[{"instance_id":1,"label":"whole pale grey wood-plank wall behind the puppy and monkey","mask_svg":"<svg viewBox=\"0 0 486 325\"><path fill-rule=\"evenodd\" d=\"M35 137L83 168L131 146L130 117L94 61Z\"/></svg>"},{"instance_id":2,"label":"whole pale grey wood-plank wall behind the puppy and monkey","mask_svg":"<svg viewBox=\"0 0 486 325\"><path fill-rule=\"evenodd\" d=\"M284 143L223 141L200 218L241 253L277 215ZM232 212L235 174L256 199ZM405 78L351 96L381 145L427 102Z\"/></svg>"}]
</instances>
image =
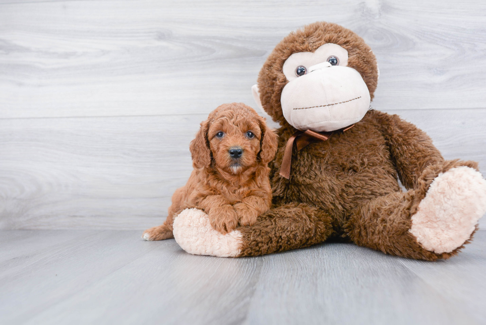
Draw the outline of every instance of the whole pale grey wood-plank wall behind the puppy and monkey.
<instances>
[{"instance_id":1,"label":"whole pale grey wood-plank wall behind the puppy and monkey","mask_svg":"<svg viewBox=\"0 0 486 325\"><path fill-rule=\"evenodd\" d=\"M254 106L269 52L317 20L373 49L373 108L485 172L485 15L483 0L0 1L0 229L159 224L199 122Z\"/></svg>"}]
</instances>

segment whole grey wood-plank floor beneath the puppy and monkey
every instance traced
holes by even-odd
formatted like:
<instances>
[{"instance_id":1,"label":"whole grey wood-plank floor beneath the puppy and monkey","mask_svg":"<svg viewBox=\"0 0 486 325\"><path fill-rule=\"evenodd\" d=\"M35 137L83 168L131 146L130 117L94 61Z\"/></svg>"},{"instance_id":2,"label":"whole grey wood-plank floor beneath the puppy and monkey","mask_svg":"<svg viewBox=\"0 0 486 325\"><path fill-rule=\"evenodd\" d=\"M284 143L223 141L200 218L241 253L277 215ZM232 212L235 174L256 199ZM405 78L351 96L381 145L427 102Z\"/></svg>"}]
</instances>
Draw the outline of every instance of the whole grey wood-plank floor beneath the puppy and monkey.
<instances>
[{"instance_id":1,"label":"whole grey wood-plank floor beneath the puppy and monkey","mask_svg":"<svg viewBox=\"0 0 486 325\"><path fill-rule=\"evenodd\" d=\"M0 231L0 324L485 324L486 231L425 262L330 243L186 254L139 231Z\"/></svg>"}]
</instances>

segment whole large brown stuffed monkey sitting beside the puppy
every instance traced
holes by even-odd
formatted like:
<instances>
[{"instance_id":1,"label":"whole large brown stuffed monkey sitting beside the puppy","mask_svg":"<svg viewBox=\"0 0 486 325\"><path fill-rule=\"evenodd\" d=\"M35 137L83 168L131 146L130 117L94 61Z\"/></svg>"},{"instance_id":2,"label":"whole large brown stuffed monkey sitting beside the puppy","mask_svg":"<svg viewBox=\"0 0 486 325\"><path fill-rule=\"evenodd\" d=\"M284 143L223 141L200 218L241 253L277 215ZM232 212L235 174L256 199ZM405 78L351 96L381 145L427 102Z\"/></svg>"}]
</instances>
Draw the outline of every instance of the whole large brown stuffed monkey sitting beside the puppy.
<instances>
[{"instance_id":1,"label":"whole large brown stuffed monkey sitting beside the puppy","mask_svg":"<svg viewBox=\"0 0 486 325\"><path fill-rule=\"evenodd\" d=\"M242 257L339 238L412 259L456 255L486 212L486 181L476 162L444 160L425 132L369 109L378 74L369 46L339 25L285 37L253 86L281 125L272 208L226 235L204 211L186 209L174 222L181 247Z\"/></svg>"}]
</instances>

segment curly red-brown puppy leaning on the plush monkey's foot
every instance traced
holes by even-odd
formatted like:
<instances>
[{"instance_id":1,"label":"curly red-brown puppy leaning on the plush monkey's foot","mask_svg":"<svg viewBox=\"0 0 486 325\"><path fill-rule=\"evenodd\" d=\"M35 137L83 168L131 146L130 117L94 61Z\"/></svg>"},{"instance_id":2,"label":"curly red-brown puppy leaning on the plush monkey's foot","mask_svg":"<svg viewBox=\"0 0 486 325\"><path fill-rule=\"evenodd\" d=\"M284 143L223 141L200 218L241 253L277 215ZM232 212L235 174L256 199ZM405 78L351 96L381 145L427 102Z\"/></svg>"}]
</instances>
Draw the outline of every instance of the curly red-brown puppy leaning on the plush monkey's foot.
<instances>
[{"instance_id":1,"label":"curly red-brown puppy leaning on the plush monkey's foot","mask_svg":"<svg viewBox=\"0 0 486 325\"><path fill-rule=\"evenodd\" d=\"M142 238L174 238L174 218L193 207L204 210L222 234L238 224L253 225L272 202L268 163L277 144L275 133L251 107L232 103L216 108L190 143L194 170L172 196L166 221L145 230Z\"/></svg>"}]
</instances>

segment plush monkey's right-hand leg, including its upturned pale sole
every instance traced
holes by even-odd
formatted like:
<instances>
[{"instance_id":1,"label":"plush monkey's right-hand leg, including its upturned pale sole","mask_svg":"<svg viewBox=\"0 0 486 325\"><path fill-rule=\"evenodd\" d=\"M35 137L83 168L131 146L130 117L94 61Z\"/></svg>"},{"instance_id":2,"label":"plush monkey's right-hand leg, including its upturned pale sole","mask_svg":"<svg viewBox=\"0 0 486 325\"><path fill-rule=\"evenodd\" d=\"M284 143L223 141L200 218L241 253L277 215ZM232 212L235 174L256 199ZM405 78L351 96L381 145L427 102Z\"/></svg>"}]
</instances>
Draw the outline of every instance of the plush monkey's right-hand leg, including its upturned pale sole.
<instances>
[{"instance_id":1,"label":"plush monkey's right-hand leg, including its upturned pale sole","mask_svg":"<svg viewBox=\"0 0 486 325\"><path fill-rule=\"evenodd\" d=\"M346 225L351 240L413 259L456 255L486 212L486 181L478 171L460 166L423 185L375 198L357 209Z\"/></svg>"}]
</instances>

